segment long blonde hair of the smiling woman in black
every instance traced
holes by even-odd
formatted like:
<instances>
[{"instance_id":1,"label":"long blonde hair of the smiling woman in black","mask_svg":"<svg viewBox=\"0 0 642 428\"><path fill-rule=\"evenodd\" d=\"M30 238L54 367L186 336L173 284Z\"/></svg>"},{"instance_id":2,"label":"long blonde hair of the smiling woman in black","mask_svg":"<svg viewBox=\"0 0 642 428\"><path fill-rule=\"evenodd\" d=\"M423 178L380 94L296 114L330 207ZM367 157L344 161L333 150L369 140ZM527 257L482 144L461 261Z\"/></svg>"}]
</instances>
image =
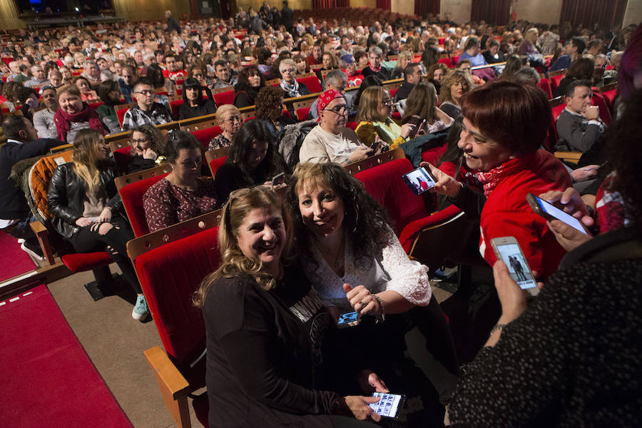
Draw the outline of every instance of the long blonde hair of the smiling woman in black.
<instances>
[{"instance_id":1,"label":"long blonde hair of the smiling woman in black","mask_svg":"<svg viewBox=\"0 0 642 428\"><path fill-rule=\"evenodd\" d=\"M245 257L238 246L239 230L245 218L252 210L261 208L272 208L280 213L286 236L281 263L290 260L292 219L289 213L283 209L280 195L277 195L271 187L266 185L235 190L230 193L230 199L223 207L223 215L221 215L218 227L220 265L215 272L205 277L192 296L192 302L196 307L203 307L210 287L220 277L233 278L240 275L250 275L263 290L272 290L276 286L276 278L263 271L263 263Z\"/></svg>"}]
</instances>

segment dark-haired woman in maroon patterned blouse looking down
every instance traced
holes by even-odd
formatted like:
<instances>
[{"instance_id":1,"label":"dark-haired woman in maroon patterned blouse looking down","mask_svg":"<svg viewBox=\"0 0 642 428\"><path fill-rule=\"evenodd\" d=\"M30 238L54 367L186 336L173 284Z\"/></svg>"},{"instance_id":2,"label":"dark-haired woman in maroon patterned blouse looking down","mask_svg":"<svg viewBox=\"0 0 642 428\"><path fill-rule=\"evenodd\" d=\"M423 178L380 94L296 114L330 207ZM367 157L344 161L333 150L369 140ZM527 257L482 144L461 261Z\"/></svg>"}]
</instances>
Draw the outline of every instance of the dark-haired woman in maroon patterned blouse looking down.
<instances>
[{"instance_id":1,"label":"dark-haired woman in maroon patterned blouse looking down","mask_svg":"<svg viewBox=\"0 0 642 428\"><path fill-rule=\"evenodd\" d=\"M212 180L200 177L200 143L193 135L168 133L165 154L171 172L143 195L150 232L209 213L220 205Z\"/></svg>"}]
</instances>

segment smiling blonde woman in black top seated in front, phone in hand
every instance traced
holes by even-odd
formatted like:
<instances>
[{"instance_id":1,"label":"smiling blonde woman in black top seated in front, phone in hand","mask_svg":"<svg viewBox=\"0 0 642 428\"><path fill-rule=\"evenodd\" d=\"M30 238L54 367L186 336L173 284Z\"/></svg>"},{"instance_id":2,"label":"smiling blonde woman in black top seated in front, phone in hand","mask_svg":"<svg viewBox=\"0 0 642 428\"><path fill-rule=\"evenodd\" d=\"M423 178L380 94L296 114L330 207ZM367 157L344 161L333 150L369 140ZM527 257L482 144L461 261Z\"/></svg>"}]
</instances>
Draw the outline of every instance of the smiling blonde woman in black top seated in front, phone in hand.
<instances>
[{"instance_id":1,"label":"smiling blonde woman in black top seated in front, phone in hand","mask_svg":"<svg viewBox=\"0 0 642 428\"><path fill-rule=\"evenodd\" d=\"M271 188L230 194L220 267L194 296L207 331L209 425L374 428L365 419L379 420L368 405L377 398L315 388L330 316L295 263L291 238ZM368 381L387 392L376 374Z\"/></svg>"}]
</instances>

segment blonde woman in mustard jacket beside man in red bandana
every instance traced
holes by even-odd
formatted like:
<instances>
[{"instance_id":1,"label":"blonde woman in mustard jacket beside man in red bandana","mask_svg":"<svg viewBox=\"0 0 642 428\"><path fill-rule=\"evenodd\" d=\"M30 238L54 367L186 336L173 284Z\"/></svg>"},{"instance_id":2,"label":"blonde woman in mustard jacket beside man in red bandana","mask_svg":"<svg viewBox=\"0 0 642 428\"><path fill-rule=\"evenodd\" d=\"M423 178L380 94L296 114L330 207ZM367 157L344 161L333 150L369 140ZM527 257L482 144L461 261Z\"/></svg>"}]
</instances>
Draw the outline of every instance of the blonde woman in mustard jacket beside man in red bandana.
<instances>
[{"instance_id":1,"label":"blonde woman in mustard jacket beside man in red bandana","mask_svg":"<svg viewBox=\"0 0 642 428\"><path fill-rule=\"evenodd\" d=\"M392 104L392 97L383 86L370 86L363 91L357 112L359 125L355 130L362 143L372 146L380 138L394 149L407 141L414 125L397 125L390 117Z\"/></svg>"}]
</instances>

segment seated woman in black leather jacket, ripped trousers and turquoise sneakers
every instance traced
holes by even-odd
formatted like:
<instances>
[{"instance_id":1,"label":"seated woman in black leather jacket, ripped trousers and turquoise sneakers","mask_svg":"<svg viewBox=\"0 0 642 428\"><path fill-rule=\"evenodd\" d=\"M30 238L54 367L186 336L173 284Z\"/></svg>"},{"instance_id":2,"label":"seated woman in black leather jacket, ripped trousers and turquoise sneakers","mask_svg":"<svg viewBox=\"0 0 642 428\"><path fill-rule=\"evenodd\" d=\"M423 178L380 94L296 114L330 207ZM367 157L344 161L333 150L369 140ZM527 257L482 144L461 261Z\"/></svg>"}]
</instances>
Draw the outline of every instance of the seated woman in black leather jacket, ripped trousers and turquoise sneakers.
<instances>
[{"instance_id":1,"label":"seated woman in black leather jacket, ripped trousers and turquoise sneakers","mask_svg":"<svg viewBox=\"0 0 642 428\"><path fill-rule=\"evenodd\" d=\"M49 210L54 215L54 228L77 253L107 251L118 263L138 294L131 315L142 321L149 310L127 258L126 244L133 239L133 233L121 215L123 202L113 182L116 165L110 155L109 144L99 131L78 131L73 140L72 161L58 166L51 178L47 193Z\"/></svg>"}]
</instances>

